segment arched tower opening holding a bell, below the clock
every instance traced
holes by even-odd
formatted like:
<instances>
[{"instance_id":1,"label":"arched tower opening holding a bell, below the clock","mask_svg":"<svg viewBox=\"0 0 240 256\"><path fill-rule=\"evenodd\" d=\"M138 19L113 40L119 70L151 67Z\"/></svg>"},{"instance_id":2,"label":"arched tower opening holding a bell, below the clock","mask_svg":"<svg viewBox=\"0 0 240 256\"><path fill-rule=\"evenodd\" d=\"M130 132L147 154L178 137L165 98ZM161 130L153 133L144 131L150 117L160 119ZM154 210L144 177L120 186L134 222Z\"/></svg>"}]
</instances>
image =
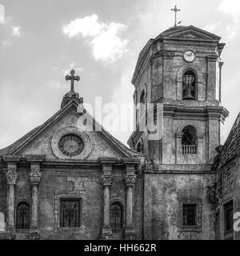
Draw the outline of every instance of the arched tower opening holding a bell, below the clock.
<instances>
[{"instance_id":1,"label":"arched tower opening holding a bell, below the clock","mask_svg":"<svg viewBox=\"0 0 240 256\"><path fill-rule=\"evenodd\" d=\"M197 76L194 70L186 70L182 77L182 98L197 99Z\"/></svg>"}]
</instances>

